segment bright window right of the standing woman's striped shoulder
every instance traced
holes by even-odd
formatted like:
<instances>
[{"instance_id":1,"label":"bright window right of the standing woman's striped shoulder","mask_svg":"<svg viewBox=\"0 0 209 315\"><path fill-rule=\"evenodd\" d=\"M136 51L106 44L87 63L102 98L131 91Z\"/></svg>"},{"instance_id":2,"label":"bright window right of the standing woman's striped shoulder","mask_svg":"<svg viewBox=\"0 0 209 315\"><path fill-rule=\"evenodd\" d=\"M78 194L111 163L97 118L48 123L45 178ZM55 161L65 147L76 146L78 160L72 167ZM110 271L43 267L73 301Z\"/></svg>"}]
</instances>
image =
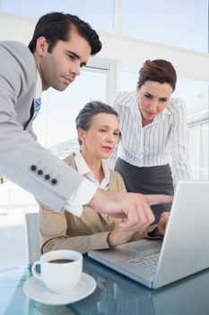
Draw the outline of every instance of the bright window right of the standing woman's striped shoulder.
<instances>
[{"instance_id":1,"label":"bright window right of the standing woman's striped shoulder","mask_svg":"<svg viewBox=\"0 0 209 315\"><path fill-rule=\"evenodd\" d=\"M173 96L186 102L191 178L208 179L208 85L181 78Z\"/></svg>"}]
</instances>

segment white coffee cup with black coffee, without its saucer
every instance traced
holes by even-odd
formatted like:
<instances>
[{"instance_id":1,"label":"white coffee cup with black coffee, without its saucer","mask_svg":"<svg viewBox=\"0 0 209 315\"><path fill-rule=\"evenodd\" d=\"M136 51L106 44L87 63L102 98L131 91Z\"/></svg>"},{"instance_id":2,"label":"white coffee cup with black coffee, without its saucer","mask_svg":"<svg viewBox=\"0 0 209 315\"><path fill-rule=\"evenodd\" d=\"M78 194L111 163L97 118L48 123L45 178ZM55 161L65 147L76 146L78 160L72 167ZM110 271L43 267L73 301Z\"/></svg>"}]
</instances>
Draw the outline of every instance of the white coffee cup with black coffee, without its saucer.
<instances>
[{"instance_id":1,"label":"white coffee cup with black coffee, without its saucer","mask_svg":"<svg viewBox=\"0 0 209 315\"><path fill-rule=\"evenodd\" d=\"M36 271L38 265L40 274ZM31 271L52 292L68 293L82 277L83 256L74 250L53 250L42 255Z\"/></svg>"}]
</instances>

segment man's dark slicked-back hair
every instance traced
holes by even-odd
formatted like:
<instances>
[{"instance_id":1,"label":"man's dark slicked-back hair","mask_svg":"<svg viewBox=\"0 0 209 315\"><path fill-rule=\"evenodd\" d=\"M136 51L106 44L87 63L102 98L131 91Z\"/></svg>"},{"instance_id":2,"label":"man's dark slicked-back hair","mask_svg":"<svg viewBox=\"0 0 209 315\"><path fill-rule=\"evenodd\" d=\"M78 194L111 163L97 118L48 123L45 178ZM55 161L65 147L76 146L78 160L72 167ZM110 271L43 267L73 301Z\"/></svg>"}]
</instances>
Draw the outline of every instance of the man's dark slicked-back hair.
<instances>
[{"instance_id":1,"label":"man's dark slicked-back hair","mask_svg":"<svg viewBox=\"0 0 209 315\"><path fill-rule=\"evenodd\" d=\"M37 40L43 36L48 41L48 52L51 52L58 40L69 40L69 31L71 31L72 26L90 44L91 56L97 54L101 49L101 42L97 32L91 29L90 24L85 23L76 15L60 12L45 14L39 18L30 40L30 51L35 51Z\"/></svg>"}]
</instances>

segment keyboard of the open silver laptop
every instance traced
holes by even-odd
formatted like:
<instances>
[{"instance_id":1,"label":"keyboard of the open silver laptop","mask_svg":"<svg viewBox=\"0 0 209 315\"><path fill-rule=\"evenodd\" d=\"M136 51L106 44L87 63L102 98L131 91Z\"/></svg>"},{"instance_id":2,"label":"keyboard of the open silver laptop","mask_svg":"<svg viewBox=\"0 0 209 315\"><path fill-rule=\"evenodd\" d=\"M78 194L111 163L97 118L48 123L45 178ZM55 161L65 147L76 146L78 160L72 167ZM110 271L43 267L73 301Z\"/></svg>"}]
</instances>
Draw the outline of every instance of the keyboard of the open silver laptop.
<instances>
[{"instance_id":1,"label":"keyboard of the open silver laptop","mask_svg":"<svg viewBox=\"0 0 209 315\"><path fill-rule=\"evenodd\" d=\"M129 263L133 264L135 266L141 266L144 269L154 273L156 271L156 268L158 266L158 260L159 260L160 253L152 254L149 256L140 256L129 259Z\"/></svg>"}]
</instances>

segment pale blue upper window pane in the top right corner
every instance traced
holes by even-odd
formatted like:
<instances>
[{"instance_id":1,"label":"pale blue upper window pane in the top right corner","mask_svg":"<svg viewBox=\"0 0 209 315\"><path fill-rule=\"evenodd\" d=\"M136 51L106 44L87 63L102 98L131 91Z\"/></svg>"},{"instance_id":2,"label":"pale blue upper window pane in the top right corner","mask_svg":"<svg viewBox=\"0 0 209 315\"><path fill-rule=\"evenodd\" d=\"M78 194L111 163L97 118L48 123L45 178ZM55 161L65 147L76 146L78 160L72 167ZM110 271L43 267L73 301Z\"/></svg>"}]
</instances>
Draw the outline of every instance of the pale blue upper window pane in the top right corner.
<instances>
[{"instance_id":1,"label":"pale blue upper window pane in the top right corner","mask_svg":"<svg viewBox=\"0 0 209 315\"><path fill-rule=\"evenodd\" d=\"M126 36L208 51L207 0L123 0L122 13Z\"/></svg>"}]
</instances>

